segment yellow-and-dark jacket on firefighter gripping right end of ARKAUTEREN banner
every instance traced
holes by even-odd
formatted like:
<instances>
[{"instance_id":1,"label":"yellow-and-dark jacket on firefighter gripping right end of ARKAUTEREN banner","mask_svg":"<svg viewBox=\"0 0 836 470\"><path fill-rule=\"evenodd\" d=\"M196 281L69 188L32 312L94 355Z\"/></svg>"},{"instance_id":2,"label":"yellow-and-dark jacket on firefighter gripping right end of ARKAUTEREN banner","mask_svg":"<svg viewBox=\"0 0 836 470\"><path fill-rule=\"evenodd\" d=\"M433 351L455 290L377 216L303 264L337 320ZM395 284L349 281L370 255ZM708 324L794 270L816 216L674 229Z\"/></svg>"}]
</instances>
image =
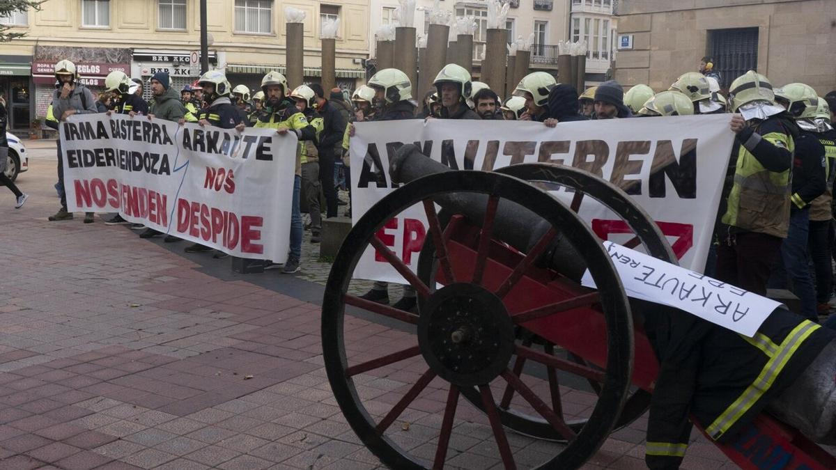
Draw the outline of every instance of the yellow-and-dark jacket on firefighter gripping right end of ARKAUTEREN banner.
<instances>
[{"instance_id":1,"label":"yellow-and-dark jacket on firefighter gripping right end of ARKAUTEREN banner","mask_svg":"<svg viewBox=\"0 0 836 470\"><path fill-rule=\"evenodd\" d=\"M792 125L792 124L791 124ZM732 151L732 188L722 222L732 232L766 233L787 238L793 135L777 117L737 134Z\"/></svg>"}]
</instances>

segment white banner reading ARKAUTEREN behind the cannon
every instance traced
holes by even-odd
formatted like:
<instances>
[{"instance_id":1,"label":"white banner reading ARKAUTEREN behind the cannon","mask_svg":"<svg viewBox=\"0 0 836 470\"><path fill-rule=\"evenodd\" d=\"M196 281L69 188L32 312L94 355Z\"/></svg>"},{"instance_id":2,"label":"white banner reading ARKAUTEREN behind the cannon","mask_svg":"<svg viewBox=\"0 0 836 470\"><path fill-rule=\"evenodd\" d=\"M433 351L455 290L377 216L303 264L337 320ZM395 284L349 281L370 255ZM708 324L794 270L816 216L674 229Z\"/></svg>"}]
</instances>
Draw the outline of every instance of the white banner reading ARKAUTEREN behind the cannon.
<instances>
[{"instance_id":1,"label":"white banner reading ARKAUTEREN behind the cannon","mask_svg":"<svg viewBox=\"0 0 836 470\"><path fill-rule=\"evenodd\" d=\"M433 160L459 170L553 162L593 172L624 189L660 226L681 266L701 273L734 141L729 119L691 115L594 120L556 128L490 120L357 123L350 141L353 222L394 191L389 160L404 143L415 143ZM571 193L555 194L571 202ZM624 243L632 238L620 217L589 197L579 214L604 240ZM378 235L415 270L426 232L423 207L415 206ZM404 282L372 248L364 253L354 277Z\"/></svg>"}]
</instances>

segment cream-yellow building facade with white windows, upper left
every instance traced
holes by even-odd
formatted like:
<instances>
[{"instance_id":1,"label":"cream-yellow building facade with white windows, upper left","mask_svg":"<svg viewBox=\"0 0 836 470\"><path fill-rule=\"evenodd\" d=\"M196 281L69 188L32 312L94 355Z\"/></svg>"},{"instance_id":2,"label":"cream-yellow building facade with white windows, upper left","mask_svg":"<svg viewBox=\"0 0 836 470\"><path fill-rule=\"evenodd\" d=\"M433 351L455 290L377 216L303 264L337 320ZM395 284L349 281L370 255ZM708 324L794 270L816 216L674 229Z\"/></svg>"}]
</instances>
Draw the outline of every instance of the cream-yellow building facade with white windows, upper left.
<instances>
[{"instance_id":1,"label":"cream-yellow building facade with white windows, upper left","mask_svg":"<svg viewBox=\"0 0 836 470\"><path fill-rule=\"evenodd\" d=\"M369 53L368 0L208 0L210 68L233 85L258 89L269 70L285 67L284 8L305 11L306 83L319 81L324 18L339 18L337 83L354 89ZM54 64L71 59L82 83L101 89L111 70L149 79L163 70L181 88L198 78L191 53L200 50L198 0L47 0L40 11L0 19L25 38L0 44L0 92L11 100L11 128L43 119L54 89ZM297 86L298 84L290 84ZM147 97L147 91L146 91Z\"/></svg>"}]
</instances>

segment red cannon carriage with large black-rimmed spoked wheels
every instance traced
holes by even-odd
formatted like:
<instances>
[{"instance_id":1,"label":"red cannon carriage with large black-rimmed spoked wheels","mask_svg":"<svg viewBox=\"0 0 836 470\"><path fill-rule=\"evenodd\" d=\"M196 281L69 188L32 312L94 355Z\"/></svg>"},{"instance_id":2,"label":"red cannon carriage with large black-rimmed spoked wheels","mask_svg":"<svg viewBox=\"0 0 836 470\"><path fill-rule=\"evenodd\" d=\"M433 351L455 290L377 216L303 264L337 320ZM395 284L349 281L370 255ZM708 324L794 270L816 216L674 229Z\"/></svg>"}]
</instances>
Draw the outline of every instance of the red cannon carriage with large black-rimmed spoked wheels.
<instances>
[{"instance_id":1,"label":"red cannon carriage with large black-rimmed spoked wheels","mask_svg":"<svg viewBox=\"0 0 836 470\"><path fill-rule=\"evenodd\" d=\"M426 174L405 167L416 162L393 161L390 172ZM570 204L547 191L557 187L573 194ZM676 263L630 197L566 166L429 174L359 219L326 287L324 361L349 425L380 461L576 468L647 410L658 361L609 255L578 215L590 199L630 227L625 246ZM412 270L380 236L415 206L429 230ZM415 288L416 314L356 295L366 250ZM577 282L587 268L599 289ZM380 385L390 390L381 395ZM826 450L766 413L718 446L744 468L836 468Z\"/></svg>"}]
</instances>

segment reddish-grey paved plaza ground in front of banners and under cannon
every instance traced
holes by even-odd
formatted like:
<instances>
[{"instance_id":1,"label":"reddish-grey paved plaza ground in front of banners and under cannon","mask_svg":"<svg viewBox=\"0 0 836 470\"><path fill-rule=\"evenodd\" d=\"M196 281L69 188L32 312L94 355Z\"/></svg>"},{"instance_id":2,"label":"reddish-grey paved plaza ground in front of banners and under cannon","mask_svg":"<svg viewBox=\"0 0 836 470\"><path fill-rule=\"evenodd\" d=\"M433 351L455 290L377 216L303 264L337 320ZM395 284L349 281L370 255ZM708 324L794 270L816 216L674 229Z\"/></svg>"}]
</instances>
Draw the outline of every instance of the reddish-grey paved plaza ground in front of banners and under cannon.
<instances>
[{"instance_id":1,"label":"reddish-grey paved plaza ground in front of banners and under cannon","mask_svg":"<svg viewBox=\"0 0 836 470\"><path fill-rule=\"evenodd\" d=\"M0 468L380 467L334 400L317 301L288 294L321 296L303 279L323 282L327 263L308 256L295 277L213 274L201 255L98 218L47 222L58 199L45 148L18 179L32 194L23 209L0 188ZM352 364L414 341L364 319L345 324ZM426 370L419 363L354 377L370 416L410 390ZM593 396L564 391L564 411L584 416ZM387 436L431 459L445 401L446 386L431 381ZM615 432L586 467L644 467L645 424ZM482 413L461 401L448 467L502 467L492 439ZM561 449L508 440L521 467ZM693 441L683 467L733 467L701 436Z\"/></svg>"}]
</instances>

